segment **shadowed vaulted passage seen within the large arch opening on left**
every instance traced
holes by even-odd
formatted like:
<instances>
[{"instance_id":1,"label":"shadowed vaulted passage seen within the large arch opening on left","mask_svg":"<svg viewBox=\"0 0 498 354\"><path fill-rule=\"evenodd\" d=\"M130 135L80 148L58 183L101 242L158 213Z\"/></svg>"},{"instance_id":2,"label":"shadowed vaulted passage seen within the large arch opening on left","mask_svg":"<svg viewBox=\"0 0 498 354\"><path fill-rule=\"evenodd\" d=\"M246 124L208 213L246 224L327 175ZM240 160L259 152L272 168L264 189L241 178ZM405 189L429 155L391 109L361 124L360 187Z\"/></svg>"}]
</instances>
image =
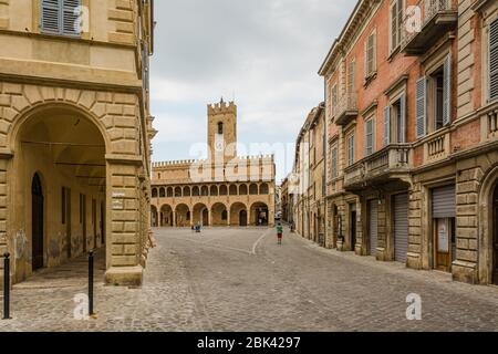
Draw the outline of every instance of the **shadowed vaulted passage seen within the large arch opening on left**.
<instances>
[{"instance_id":1,"label":"shadowed vaulted passage seen within the large arch opening on left","mask_svg":"<svg viewBox=\"0 0 498 354\"><path fill-rule=\"evenodd\" d=\"M12 266L17 282L33 270L105 247L102 220L112 216L102 210L107 205L103 134L90 112L62 103L39 105L14 121L8 135L15 152L8 208L15 212L10 214L8 232L15 235L13 242L25 244ZM116 208L122 206L117 201Z\"/></svg>"}]
</instances>

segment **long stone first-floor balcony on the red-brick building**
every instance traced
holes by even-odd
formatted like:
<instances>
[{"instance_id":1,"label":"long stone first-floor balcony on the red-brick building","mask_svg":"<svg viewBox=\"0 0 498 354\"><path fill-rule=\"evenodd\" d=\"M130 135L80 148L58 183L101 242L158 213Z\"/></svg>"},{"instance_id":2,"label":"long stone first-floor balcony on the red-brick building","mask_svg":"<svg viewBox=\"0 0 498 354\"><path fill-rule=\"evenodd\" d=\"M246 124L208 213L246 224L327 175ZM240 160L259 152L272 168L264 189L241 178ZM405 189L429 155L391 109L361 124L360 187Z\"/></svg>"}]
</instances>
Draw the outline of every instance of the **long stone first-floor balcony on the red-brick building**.
<instances>
[{"instance_id":1,"label":"long stone first-floor balcony on the red-brick building","mask_svg":"<svg viewBox=\"0 0 498 354\"><path fill-rule=\"evenodd\" d=\"M346 190L363 189L407 177L412 160L409 144L393 144L345 168Z\"/></svg>"}]
</instances>

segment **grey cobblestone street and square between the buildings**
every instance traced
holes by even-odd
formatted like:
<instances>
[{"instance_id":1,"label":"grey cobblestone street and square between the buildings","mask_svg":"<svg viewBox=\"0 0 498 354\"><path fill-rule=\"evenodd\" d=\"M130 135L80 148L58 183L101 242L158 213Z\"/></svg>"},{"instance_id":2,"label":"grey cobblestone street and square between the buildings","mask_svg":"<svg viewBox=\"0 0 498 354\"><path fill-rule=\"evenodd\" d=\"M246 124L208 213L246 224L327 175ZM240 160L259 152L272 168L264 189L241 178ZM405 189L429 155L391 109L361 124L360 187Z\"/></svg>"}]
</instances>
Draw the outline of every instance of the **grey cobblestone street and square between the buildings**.
<instances>
[{"instance_id":1,"label":"grey cobblestone street and square between the buildings","mask_svg":"<svg viewBox=\"0 0 498 354\"><path fill-rule=\"evenodd\" d=\"M324 250L269 229L155 230L144 287L104 287L97 257L96 320L74 320L86 261L45 270L14 287L13 320L0 331L496 331L498 288L453 282ZM407 321L406 295L422 296Z\"/></svg>"}]
</instances>

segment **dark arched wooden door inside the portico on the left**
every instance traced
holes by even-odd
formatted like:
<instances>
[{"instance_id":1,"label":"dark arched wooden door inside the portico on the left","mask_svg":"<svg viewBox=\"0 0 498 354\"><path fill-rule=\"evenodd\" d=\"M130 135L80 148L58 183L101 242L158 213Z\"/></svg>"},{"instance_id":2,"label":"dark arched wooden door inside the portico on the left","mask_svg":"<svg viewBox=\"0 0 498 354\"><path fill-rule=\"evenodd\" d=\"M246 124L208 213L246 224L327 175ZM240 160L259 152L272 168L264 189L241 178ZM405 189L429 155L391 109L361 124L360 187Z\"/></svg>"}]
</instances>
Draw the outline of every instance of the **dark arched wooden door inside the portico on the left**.
<instances>
[{"instance_id":1,"label":"dark arched wooden door inside the portico on the left","mask_svg":"<svg viewBox=\"0 0 498 354\"><path fill-rule=\"evenodd\" d=\"M31 184L32 269L43 268L43 190L37 174Z\"/></svg>"}]
</instances>

